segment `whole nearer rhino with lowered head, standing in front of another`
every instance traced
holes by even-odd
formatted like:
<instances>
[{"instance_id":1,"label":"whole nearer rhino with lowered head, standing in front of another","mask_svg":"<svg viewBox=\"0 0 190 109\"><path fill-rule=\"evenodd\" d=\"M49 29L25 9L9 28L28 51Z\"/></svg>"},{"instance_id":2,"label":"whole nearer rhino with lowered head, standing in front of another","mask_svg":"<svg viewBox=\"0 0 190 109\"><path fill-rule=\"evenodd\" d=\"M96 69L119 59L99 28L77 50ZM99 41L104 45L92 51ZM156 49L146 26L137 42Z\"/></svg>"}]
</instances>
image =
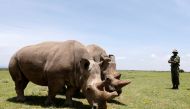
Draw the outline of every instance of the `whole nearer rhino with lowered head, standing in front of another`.
<instances>
[{"instance_id":1,"label":"whole nearer rhino with lowered head, standing in front of another","mask_svg":"<svg viewBox=\"0 0 190 109\"><path fill-rule=\"evenodd\" d=\"M17 100L24 101L24 89L29 81L48 86L46 104L52 104L57 92L67 85L65 104L72 105L72 96L81 89L89 104L106 108L106 101L117 92L104 90L110 80L101 80L99 63L80 42L45 42L19 50L10 60L9 72L15 82Z\"/></svg>"}]
</instances>

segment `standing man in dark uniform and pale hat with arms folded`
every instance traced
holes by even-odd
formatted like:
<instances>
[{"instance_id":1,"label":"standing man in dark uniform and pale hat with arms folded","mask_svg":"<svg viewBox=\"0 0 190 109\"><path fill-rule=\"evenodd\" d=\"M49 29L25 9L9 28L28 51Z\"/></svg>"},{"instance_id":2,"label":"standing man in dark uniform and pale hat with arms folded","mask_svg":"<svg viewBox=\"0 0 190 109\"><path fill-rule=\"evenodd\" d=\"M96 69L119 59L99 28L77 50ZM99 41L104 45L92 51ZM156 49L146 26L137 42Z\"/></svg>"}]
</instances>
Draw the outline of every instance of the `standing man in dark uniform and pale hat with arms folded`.
<instances>
[{"instance_id":1,"label":"standing man in dark uniform and pale hat with arms folded","mask_svg":"<svg viewBox=\"0 0 190 109\"><path fill-rule=\"evenodd\" d=\"M170 57L168 63L171 64L171 78L172 78L172 89L178 89L179 85L179 66L180 66L180 57L177 55L178 51L173 50L173 56Z\"/></svg>"}]
</instances>

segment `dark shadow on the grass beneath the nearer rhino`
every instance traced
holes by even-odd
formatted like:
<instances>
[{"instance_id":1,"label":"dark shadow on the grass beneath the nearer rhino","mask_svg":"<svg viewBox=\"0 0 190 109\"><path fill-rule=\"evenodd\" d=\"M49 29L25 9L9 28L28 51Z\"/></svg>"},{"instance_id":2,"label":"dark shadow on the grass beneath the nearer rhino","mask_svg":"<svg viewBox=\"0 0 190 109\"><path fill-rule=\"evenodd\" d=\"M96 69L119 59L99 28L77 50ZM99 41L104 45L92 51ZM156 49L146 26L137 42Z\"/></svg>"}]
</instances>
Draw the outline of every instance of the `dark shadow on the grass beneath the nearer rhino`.
<instances>
[{"instance_id":1,"label":"dark shadow on the grass beneath the nearer rhino","mask_svg":"<svg viewBox=\"0 0 190 109\"><path fill-rule=\"evenodd\" d=\"M17 102L16 97L9 98L7 101L13 102L13 103L23 103L26 105L33 105L33 106L42 106L42 107L49 107L44 104L46 100L46 96L25 96L26 101L25 102ZM64 101L65 99L62 98L56 98L55 99L55 105L56 108L64 108ZM90 109L90 105L84 105L82 102L73 100L73 103L75 106L71 107L72 109ZM65 107L66 108L66 107Z\"/></svg>"}]
</instances>

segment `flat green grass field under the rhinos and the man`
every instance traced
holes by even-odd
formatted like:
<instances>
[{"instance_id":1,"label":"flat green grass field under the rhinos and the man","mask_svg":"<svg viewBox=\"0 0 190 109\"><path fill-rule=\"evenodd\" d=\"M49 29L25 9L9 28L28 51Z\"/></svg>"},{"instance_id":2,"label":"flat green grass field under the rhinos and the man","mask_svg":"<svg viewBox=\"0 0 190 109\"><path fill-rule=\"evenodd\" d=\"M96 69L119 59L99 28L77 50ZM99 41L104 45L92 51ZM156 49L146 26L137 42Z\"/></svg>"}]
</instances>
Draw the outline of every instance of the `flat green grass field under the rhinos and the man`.
<instances>
[{"instance_id":1,"label":"flat green grass field under the rhinos and the man","mask_svg":"<svg viewBox=\"0 0 190 109\"><path fill-rule=\"evenodd\" d=\"M129 79L132 83L123 88L119 97L109 101L108 109L190 109L190 73L181 73L179 90L173 90L170 72L120 72L122 79ZM56 96L54 107L45 107L47 87L29 83L25 95L26 102L15 102L14 83L8 71L0 71L0 109L70 109L63 106L63 95ZM90 108L86 99L74 99L74 102L78 104L75 109Z\"/></svg>"}]
</instances>

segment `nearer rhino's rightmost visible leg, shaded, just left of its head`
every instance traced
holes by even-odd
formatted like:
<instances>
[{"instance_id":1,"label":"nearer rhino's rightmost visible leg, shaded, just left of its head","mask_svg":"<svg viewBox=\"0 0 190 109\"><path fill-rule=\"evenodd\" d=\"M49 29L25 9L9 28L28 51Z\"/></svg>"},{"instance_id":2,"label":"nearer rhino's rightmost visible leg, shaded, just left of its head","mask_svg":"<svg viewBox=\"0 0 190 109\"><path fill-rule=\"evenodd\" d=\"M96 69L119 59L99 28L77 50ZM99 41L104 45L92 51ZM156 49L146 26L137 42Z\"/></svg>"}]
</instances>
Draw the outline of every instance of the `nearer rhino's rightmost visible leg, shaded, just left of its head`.
<instances>
[{"instance_id":1,"label":"nearer rhino's rightmost visible leg, shaded, just left of its head","mask_svg":"<svg viewBox=\"0 0 190 109\"><path fill-rule=\"evenodd\" d=\"M76 93L76 90L77 90L76 88L73 88L71 86L67 87L66 100L64 103L65 106L74 106L74 104L72 102L72 97Z\"/></svg>"}]
</instances>

